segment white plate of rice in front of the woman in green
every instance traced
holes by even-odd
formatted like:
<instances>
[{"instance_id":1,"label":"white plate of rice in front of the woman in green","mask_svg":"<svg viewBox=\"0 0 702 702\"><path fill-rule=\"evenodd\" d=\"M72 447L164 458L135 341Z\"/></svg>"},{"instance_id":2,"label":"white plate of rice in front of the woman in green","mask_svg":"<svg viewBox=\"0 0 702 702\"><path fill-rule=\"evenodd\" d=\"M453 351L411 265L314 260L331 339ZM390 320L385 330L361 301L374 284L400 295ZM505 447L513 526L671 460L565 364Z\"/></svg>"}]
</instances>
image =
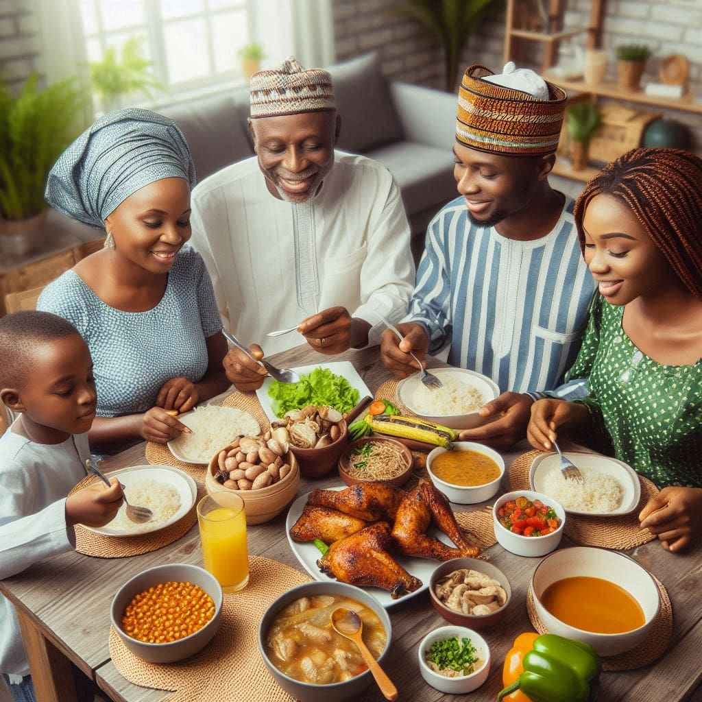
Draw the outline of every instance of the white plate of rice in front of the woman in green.
<instances>
[{"instance_id":1,"label":"white plate of rice in front of the woman in green","mask_svg":"<svg viewBox=\"0 0 702 702\"><path fill-rule=\"evenodd\" d=\"M557 453L536 456L529 470L531 489L552 497L571 515L612 517L633 512L641 499L641 484L633 468L599 453L566 451L583 474L583 482L567 480Z\"/></svg>"}]
</instances>

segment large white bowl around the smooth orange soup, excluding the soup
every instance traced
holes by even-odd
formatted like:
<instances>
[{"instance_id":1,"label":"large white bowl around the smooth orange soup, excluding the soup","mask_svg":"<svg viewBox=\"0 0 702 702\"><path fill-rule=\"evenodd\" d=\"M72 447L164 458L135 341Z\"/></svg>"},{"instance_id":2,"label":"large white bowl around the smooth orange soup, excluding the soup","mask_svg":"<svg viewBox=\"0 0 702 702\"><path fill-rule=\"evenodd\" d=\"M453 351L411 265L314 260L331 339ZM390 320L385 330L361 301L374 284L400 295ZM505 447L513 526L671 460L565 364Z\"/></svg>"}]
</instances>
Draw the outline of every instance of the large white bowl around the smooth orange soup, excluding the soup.
<instances>
[{"instance_id":1,"label":"large white bowl around the smooth orange soup, excluding the soup","mask_svg":"<svg viewBox=\"0 0 702 702\"><path fill-rule=\"evenodd\" d=\"M543 607L541 597L552 583L576 576L602 578L620 585L640 604L644 611L644 624L621 634L598 634L577 629L557 619ZM531 576L531 589L536 613L551 633L584 641L600 656L616 656L644 641L653 626L661 601L651 574L635 560L616 551L590 546L562 548L545 557Z\"/></svg>"}]
</instances>

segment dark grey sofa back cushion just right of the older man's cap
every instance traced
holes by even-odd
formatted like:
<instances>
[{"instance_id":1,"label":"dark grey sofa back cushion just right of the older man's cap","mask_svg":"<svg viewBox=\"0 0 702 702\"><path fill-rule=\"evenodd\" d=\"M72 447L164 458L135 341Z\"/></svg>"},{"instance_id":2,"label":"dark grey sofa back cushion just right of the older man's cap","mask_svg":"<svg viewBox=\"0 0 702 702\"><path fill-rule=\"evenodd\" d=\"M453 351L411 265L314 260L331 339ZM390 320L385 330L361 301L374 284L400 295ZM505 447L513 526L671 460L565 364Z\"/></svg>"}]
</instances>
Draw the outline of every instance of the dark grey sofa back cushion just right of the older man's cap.
<instances>
[{"instance_id":1,"label":"dark grey sofa back cushion just right of the older man's cap","mask_svg":"<svg viewBox=\"0 0 702 702\"><path fill-rule=\"evenodd\" d=\"M328 70L336 110L341 115L340 149L363 154L374 146L402 139L402 126L375 53L339 63Z\"/></svg>"}]
</instances>

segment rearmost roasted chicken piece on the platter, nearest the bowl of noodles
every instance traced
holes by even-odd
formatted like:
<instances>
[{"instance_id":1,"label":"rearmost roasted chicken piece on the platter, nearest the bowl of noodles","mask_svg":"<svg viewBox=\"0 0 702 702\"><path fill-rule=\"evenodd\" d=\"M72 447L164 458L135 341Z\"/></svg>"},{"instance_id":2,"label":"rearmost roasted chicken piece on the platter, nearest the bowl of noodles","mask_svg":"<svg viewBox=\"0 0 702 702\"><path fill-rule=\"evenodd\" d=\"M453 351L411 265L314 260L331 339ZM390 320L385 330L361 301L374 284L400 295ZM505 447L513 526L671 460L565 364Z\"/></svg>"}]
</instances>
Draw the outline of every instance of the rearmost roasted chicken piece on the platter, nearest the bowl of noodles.
<instances>
[{"instance_id":1,"label":"rearmost roasted chicken piece on the platter, nearest the bowl of noodles","mask_svg":"<svg viewBox=\"0 0 702 702\"><path fill-rule=\"evenodd\" d=\"M307 505L319 505L344 512L345 515L376 522L392 522L404 492L393 485L381 482L360 482L340 491L312 490Z\"/></svg>"}]
</instances>

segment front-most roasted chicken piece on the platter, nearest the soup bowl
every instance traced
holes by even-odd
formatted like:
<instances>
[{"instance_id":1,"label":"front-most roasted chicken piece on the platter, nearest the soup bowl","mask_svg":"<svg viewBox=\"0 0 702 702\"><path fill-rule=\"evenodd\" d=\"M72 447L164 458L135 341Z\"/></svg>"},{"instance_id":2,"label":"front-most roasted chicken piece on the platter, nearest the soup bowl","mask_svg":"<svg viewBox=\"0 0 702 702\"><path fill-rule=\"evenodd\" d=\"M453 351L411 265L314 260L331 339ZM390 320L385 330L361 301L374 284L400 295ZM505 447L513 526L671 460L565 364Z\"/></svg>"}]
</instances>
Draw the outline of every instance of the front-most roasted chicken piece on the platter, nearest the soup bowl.
<instances>
[{"instance_id":1,"label":"front-most roasted chicken piece on the platter, nearest the soup bowl","mask_svg":"<svg viewBox=\"0 0 702 702\"><path fill-rule=\"evenodd\" d=\"M388 522L376 522L333 543L317 565L323 573L343 583L390 590L390 597L397 600L406 592L420 588L422 582L388 553L391 544Z\"/></svg>"}]
</instances>

